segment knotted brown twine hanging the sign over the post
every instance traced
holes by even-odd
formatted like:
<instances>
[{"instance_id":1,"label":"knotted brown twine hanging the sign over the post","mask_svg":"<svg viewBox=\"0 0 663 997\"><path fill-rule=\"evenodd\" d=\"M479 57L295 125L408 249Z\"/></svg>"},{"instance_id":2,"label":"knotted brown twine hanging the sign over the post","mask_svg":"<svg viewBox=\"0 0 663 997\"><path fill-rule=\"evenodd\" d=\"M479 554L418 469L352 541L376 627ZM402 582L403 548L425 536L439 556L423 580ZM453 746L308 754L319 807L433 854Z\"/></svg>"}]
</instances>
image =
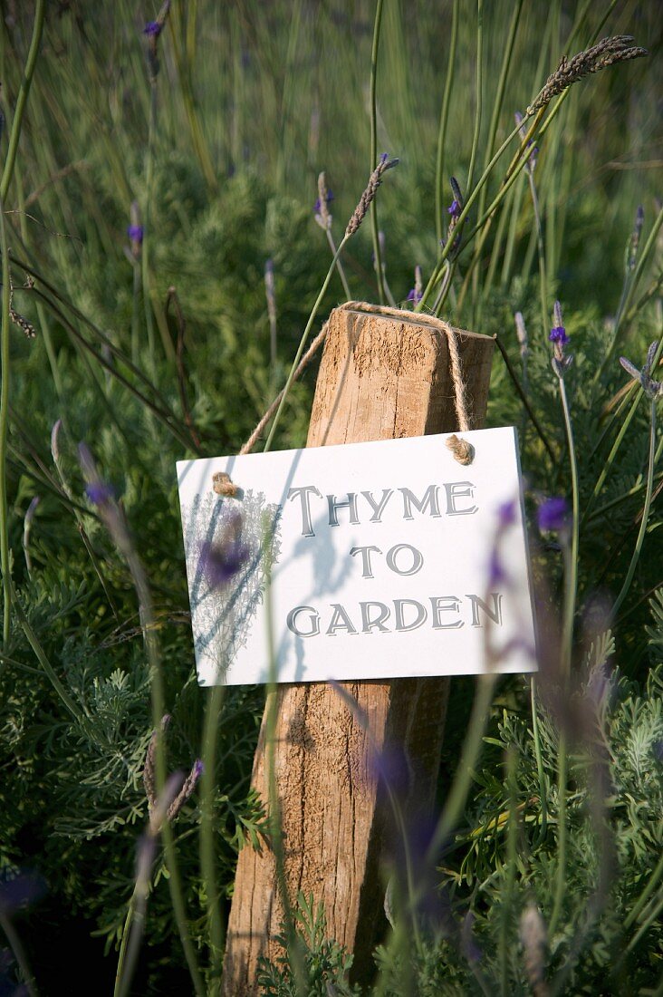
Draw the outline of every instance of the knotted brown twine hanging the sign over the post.
<instances>
[{"instance_id":1,"label":"knotted brown twine hanging the sign over the post","mask_svg":"<svg viewBox=\"0 0 663 997\"><path fill-rule=\"evenodd\" d=\"M363 313L388 315L394 318L408 319L408 321L412 321L417 316L416 312L403 311L400 308L386 308L382 305L371 305L367 304L365 301L346 301L345 304L340 305L339 307L347 311L360 311ZM470 415L468 413L466 384L463 377L463 368L461 366L458 333L452 328L451 325L449 325L448 322L445 322L444 319L436 318L432 315L422 315L422 318L425 319L427 325L432 325L434 328L444 332L447 336L447 346L449 348L449 359L451 361L452 382L454 384L454 400L456 403L456 414L458 416L459 429L462 433L467 433L470 430ZM322 329L299 361L299 365L297 366L292 378L293 381L297 381L306 367L310 364L311 360L324 342L328 328L329 319L327 319L324 323ZM284 394L285 389L280 391L276 396L246 443L240 449L238 455L239 457L243 457L244 454L249 454L253 450L253 447L259 440L265 426L267 426L272 416L278 409ZM472 464L475 457L475 448L471 443L468 443L467 440L463 440L454 434L449 437L446 444L459 464ZM222 471L218 471L212 476L212 488L216 495L222 496L223 498L234 498L237 495L237 486L231 481L230 476L226 475Z\"/></svg>"}]
</instances>

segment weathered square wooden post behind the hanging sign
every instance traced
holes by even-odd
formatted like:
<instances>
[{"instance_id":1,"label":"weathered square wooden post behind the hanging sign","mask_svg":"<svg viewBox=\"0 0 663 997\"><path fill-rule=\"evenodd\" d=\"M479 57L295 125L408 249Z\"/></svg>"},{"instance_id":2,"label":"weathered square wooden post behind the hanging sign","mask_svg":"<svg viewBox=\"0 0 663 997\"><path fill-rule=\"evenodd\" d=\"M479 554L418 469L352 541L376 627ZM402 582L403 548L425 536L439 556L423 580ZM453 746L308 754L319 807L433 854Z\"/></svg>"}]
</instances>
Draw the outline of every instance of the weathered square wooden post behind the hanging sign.
<instances>
[{"instance_id":1,"label":"weathered square wooden post behind the hanging sign","mask_svg":"<svg viewBox=\"0 0 663 997\"><path fill-rule=\"evenodd\" d=\"M473 428L486 414L494 340L454 330ZM361 304L329 320L308 447L387 440L458 429L448 327L428 316ZM369 758L393 743L405 751L408 809L431 808L440 765L449 679L344 684L368 729L325 683L281 686L274 746L285 879L322 901L327 935L369 969L386 925L380 862L389 817ZM266 717L266 713L265 713ZM252 785L267 801L265 720ZM240 854L228 922L225 997L257 994L259 955L277 952L283 918L272 850Z\"/></svg>"}]
</instances>

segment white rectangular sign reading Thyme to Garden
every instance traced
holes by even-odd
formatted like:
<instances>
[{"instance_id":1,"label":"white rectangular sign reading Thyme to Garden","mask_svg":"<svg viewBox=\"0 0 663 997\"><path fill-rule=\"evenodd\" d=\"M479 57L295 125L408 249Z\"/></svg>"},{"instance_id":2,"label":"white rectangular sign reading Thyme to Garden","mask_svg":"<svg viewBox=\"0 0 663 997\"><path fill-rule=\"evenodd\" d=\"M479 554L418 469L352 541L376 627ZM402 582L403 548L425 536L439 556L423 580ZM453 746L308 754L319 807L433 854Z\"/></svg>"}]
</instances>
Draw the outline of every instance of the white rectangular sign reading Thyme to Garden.
<instances>
[{"instance_id":1,"label":"white rectangular sign reading Thyme to Garden","mask_svg":"<svg viewBox=\"0 0 663 997\"><path fill-rule=\"evenodd\" d=\"M177 464L201 685L535 669L515 431L449 435Z\"/></svg>"}]
</instances>

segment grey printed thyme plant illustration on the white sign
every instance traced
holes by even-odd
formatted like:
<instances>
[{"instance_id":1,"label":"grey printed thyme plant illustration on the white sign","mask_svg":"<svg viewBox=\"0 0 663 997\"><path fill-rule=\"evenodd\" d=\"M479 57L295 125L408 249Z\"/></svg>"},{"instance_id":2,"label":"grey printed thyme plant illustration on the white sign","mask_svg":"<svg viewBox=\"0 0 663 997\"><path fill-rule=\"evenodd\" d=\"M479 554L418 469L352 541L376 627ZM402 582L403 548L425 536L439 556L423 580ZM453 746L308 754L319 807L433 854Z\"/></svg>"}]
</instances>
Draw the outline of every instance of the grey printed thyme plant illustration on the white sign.
<instances>
[{"instance_id":1,"label":"grey printed thyme plant illustration on the white sign","mask_svg":"<svg viewBox=\"0 0 663 997\"><path fill-rule=\"evenodd\" d=\"M182 506L196 660L213 658L216 680L246 643L280 553L280 508L250 489L241 499L210 489Z\"/></svg>"}]
</instances>

